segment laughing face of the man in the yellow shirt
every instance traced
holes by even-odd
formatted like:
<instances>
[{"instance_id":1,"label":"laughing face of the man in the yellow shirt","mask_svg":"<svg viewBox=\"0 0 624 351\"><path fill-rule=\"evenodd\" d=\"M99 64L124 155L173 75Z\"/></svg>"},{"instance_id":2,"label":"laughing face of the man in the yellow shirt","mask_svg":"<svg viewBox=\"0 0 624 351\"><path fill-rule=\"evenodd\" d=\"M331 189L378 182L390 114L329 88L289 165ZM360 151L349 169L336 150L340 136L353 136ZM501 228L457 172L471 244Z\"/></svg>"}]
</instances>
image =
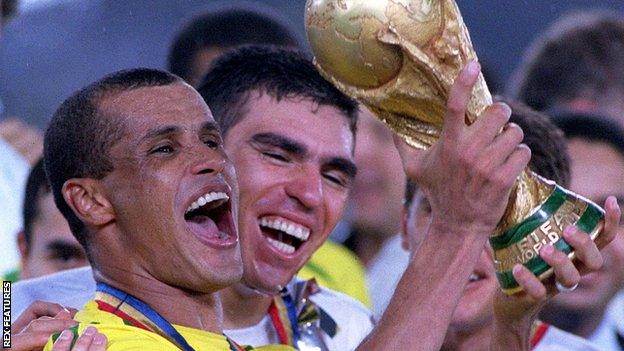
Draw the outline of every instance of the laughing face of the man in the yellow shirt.
<instances>
[{"instance_id":1,"label":"laughing face of the man in the yellow shirt","mask_svg":"<svg viewBox=\"0 0 624 351\"><path fill-rule=\"evenodd\" d=\"M117 230L99 240L113 240L133 273L168 285L208 293L238 281L234 168L199 94L182 83L138 88L103 99L100 109L125 128L110 151L114 170L101 181ZM97 256L100 266L119 259Z\"/></svg>"}]
</instances>

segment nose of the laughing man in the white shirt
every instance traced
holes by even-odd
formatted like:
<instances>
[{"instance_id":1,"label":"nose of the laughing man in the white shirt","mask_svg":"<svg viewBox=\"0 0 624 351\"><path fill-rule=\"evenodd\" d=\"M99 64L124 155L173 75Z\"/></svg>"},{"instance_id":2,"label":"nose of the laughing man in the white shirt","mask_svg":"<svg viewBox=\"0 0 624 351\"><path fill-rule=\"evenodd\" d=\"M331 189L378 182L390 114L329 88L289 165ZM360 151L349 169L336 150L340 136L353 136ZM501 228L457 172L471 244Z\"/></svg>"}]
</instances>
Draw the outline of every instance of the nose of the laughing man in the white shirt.
<instances>
[{"instance_id":1,"label":"nose of the laughing man in the white shirt","mask_svg":"<svg viewBox=\"0 0 624 351\"><path fill-rule=\"evenodd\" d=\"M311 167L291 178L285 189L289 197L307 210L313 210L323 202L323 179L320 172Z\"/></svg>"}]
</instances>

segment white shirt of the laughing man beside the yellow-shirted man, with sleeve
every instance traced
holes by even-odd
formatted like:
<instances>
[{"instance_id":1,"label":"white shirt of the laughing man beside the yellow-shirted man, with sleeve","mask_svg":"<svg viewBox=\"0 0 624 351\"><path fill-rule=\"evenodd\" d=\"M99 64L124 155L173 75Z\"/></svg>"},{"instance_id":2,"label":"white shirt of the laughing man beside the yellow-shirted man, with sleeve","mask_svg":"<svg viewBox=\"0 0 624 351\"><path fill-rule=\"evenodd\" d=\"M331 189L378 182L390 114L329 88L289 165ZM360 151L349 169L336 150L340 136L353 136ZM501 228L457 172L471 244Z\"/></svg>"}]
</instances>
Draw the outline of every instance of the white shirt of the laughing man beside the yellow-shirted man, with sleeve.
<instances>
[{"instance_id":1,"label":"white shirt of the laughing man beside the yellow-shirted man, with sleeve","mask_svg":"<svg viewBox=\"0 0 624 351\"><path fill-rule=\"evenodd\" d=\"M20 281L12 288L13 320L36 300L80 309L95 296L95 281L90 267ZM332 351L354 350L373 329L370 312L347 295L321 288L321 291L312 295L310 299L327 312L338 325L333 338L324 335L325 343ZM268 315L255 326L225 330L224 333L243 345L262 346L279 343L277 332Z\"/></svg>"}]
</instances>

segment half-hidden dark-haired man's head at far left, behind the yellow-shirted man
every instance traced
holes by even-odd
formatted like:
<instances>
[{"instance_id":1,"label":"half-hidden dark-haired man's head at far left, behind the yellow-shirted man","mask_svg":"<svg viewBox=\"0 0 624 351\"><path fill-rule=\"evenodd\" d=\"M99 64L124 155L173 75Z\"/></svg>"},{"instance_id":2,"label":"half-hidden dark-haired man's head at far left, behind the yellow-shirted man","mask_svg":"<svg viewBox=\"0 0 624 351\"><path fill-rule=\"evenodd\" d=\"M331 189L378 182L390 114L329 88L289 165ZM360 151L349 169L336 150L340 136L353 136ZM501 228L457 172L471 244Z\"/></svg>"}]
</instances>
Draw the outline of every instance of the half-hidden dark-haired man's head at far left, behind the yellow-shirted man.
<instances>
[{"instance_id":1,"label":"half-hidden dark-haired man's head at far left, behind the yellow-shirted man","mask_svg":"<svg viewBox=\"0 0 624 351\"><path fill-rule=\"evenodd\" d=\"M17 235L21 270L14 280L30 279L89 264L67 221L54 204L40 160L26 182L24 229Z\"/></svg>"}]
</instances>

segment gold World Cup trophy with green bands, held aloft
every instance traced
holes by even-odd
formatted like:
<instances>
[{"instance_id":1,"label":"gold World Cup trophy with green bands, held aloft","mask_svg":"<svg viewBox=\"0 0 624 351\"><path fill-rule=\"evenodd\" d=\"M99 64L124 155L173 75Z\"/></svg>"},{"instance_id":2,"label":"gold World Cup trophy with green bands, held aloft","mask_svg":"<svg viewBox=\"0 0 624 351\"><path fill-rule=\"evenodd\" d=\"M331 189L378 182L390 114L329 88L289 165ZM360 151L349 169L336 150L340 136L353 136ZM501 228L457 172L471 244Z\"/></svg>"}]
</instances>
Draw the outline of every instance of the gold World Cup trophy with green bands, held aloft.
<instances>
[{"instance_id":1,"label":"gold World Cup trophy with green bands, held aloft","mask_svg":"<svg viewBox=\"0 0 624 351\"><path fill-rule=\"evenodd\" d=\"M459 71L477 58L453 0L308 0L305 24L321 74L356 98L409 145L426 149L440 136L446 101ZM492 96L480 75L466 122ZM475 199L475 201L478 201ZM516 263L540 279L552 273L539 250L548 244L574 257L563 229L574 224L594 240L604 211L526 169L490 237L502 290L521 290Z\"/></svg>"}]
</instances>

